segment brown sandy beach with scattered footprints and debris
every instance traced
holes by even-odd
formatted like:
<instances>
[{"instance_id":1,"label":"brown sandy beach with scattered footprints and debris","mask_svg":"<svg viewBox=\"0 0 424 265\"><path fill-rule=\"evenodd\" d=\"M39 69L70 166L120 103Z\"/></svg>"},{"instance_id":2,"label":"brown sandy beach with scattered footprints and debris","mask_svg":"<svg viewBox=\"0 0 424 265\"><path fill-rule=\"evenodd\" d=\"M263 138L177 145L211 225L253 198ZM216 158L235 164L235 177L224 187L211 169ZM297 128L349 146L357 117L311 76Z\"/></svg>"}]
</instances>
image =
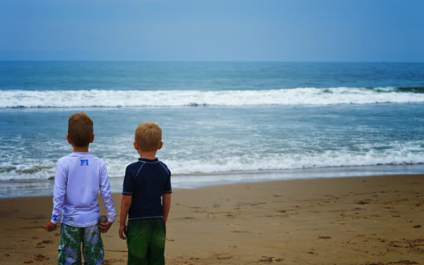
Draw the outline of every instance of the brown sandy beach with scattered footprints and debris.
<instances>
[{"instance_id":1,"label":"brown sandy beach with scattered footprints and debris","mask_svg":"<svg viewBox=\"0 0 424 265\"><path fill-rule=\"evenodd\" d=\"M117 213L119 201L114 194ZM0 200L0 264L56 264L59 229L42 228L51 211L51 196ZM102 234L106 264L126 264L118 226ZM175 189L165 257L192 265L424 264L424 175Z\"/></svg>"}]
</instances>

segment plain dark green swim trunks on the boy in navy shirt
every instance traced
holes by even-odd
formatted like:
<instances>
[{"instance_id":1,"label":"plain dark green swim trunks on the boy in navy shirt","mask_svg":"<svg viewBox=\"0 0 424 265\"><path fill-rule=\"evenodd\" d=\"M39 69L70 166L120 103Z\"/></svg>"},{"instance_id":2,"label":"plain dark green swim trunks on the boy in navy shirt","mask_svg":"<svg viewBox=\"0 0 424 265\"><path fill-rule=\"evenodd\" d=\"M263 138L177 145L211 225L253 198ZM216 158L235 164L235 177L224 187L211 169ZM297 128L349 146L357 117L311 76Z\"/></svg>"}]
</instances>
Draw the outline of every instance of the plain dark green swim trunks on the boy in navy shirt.
<instances>
[{"instance_id":1,"label":"plain dark green swim trunks on the boy in navy shirt","mask_svg":"<svg viewBox=\"0 0 424 265\"><path fill-rule=\"evenodd\" d=\"M127 226L127 264L165 264L166 230L163 218L129 220Z\"/></svg>"}]
</instances>

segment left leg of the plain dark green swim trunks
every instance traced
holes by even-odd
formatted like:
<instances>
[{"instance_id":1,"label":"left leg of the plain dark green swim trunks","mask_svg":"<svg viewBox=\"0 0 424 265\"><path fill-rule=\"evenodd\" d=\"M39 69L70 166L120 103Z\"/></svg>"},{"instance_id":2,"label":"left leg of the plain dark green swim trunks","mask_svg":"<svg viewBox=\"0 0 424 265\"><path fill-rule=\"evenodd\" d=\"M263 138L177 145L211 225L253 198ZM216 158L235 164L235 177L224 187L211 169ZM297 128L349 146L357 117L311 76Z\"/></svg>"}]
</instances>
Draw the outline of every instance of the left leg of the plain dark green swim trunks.
<instances>
[{"instance_id":1,"label":"left leg of the plain dark green swim trunks","mask_svg":"<svg viewBox=\"0 0 424 265\"><path fill-rule=\"evenodd\" d=\"M129 220L126 228L127 265L147 265L150 227L148 220Z\"/></svg>"}]
</instances>

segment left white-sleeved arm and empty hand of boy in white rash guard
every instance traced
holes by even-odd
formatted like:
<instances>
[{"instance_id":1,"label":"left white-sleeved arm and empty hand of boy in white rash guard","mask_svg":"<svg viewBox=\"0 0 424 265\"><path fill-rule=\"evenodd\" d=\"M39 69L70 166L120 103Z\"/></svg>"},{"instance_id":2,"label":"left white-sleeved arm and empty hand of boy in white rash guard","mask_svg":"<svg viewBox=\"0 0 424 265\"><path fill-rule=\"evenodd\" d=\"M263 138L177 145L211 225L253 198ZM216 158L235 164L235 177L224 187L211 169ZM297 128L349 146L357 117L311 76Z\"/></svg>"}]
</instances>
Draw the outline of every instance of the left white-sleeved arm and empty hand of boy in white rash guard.
<instances>
[{"instance_id":1,"label":"left white-sleeved arm and empty hand of boy in white rash guard","mask_svg":"<svg viewBox=\"0 0 424 265\"><path fill-rule=\"evenodd\" d=\"M54 189L53 189L53 212L52 220L45 225L45 230L51 232L56 230L57 223L61 218L62 208L64 207L65 194L66 194L67 174L60 161L57 161L56 175L54 176Z\"/></svg>"}]
</instances>

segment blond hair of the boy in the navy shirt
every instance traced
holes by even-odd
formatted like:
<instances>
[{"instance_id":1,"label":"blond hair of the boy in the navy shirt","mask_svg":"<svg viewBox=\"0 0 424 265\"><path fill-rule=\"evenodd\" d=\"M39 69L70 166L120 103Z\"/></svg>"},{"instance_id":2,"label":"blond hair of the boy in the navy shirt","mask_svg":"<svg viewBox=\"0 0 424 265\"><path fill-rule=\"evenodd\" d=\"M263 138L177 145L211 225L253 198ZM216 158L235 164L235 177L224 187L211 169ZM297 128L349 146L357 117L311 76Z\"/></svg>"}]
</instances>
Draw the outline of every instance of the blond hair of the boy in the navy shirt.
<instances>
[{"instance_id":1,"label":"blond hair of the boy in the navy shirt","mask_svg":"<svg viewBox=\"0 0 424 265\"><path fill-rule=\"evenodd\" d=\"M162 129L153 122L143 122L136 128L134 141L141 151L157 151L162 141Z\"/></svg>"}]
</instances>

